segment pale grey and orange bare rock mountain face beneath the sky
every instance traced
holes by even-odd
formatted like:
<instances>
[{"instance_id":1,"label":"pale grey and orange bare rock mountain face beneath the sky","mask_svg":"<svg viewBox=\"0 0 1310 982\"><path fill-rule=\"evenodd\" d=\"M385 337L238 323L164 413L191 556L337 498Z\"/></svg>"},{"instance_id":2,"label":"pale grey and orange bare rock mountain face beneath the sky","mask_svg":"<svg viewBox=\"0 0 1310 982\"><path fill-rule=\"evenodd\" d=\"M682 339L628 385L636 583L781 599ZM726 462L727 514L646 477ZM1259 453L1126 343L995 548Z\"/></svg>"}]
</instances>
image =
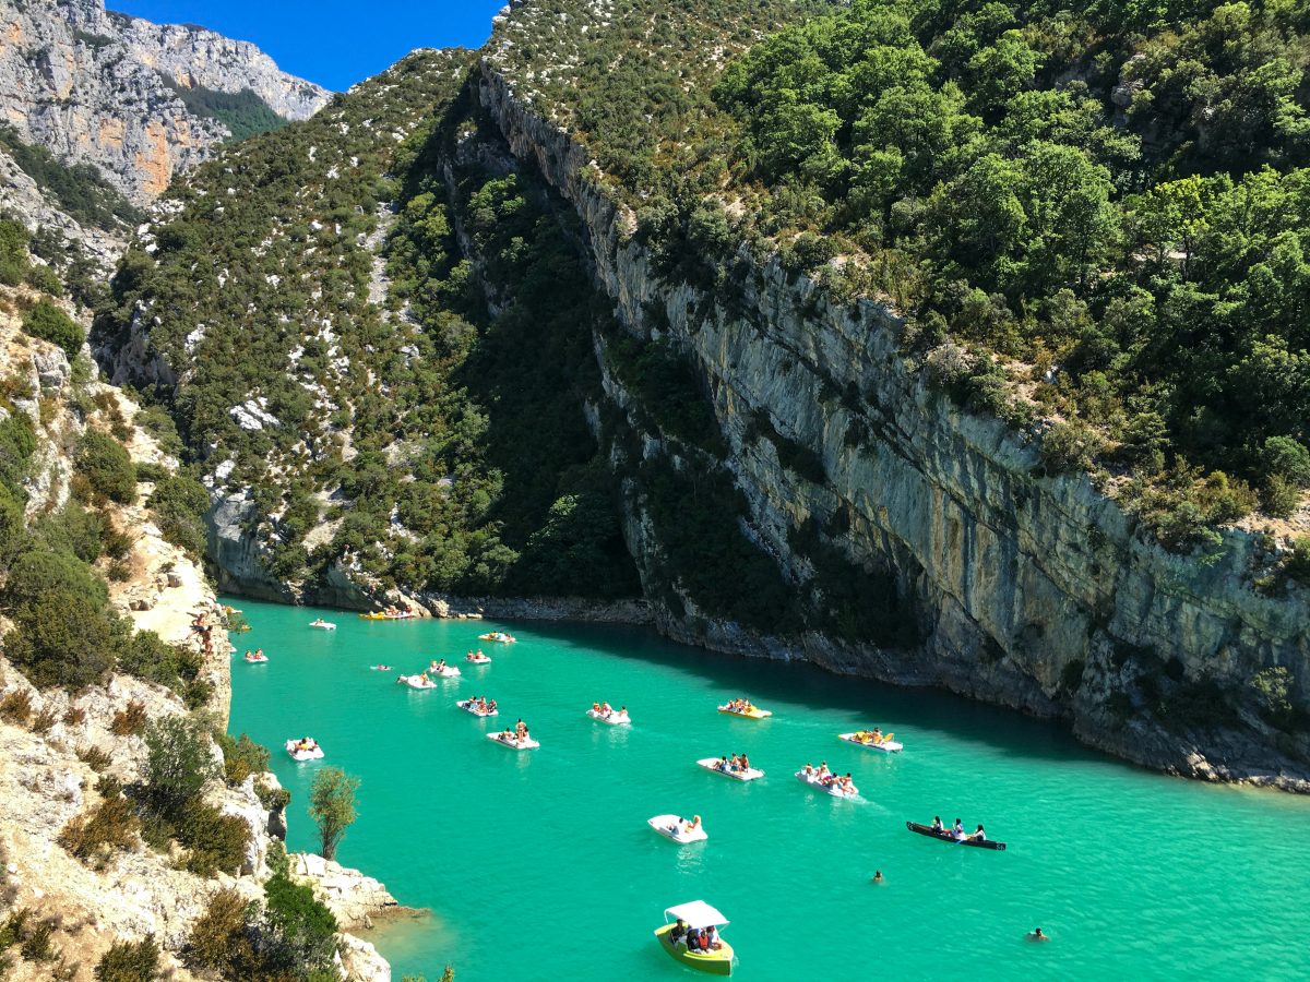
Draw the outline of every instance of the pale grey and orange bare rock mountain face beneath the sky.
<instances>
[{"instance_id":1,"label":"pale grey and orange bare rock mountain face beneath the sky","mask_svg":"<svg viewBox=\"0 0 1310 982\"><path fill-rule=\"evenodd\" d=\"M105 10L102 0L0 0L0 122L62 160L90 162L145 203L231 135L169 85L254 92L284 119L329 93L280 72L254 45Z\"/></svg>"}]
</instances>

